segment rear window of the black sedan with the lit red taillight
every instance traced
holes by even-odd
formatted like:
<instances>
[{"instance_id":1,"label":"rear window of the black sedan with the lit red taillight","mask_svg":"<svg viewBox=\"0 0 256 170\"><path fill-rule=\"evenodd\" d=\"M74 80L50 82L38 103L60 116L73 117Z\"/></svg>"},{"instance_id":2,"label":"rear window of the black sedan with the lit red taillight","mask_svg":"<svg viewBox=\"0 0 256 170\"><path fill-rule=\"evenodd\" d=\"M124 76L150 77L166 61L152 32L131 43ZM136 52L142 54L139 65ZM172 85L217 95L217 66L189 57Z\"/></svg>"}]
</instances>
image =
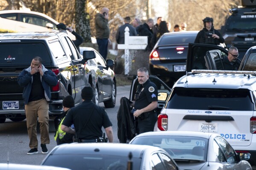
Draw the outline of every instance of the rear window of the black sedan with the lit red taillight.
<instances>
[{"instance_id":1,"label":"rear window of the black sedan with the lit red taillight","mask_svg":"<svg viewBox=\"0 0 256 170\"><path fill-rule=\"evenodd\" d=\"M172 44L188 44L194 43L197 34L179 34L163 36L159 41L159 46L172 45Z\"/></svg>"}]
</instances>

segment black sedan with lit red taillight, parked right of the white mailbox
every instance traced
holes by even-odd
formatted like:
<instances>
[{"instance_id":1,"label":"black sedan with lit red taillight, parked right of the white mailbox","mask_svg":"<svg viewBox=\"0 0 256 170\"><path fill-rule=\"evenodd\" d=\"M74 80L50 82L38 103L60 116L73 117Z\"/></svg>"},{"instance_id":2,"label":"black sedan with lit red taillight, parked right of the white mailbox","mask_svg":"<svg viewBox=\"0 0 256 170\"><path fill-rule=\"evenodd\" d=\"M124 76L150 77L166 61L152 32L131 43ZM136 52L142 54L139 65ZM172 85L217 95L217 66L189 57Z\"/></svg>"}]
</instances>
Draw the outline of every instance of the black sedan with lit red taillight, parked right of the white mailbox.
<instances>
[{"instance_id":1,"label":"black sedan with lit red taillight, parked right of the white mailbox","mask_svg":"<svg viewBox=\"0 0 256 170\"><path fill-rule=\"evenodd\" d=\"M194 43L198 31L169 32L160 37L149 56L149 71L173 86L185 75L188 43Z\"/></svg>"}]
</instances>

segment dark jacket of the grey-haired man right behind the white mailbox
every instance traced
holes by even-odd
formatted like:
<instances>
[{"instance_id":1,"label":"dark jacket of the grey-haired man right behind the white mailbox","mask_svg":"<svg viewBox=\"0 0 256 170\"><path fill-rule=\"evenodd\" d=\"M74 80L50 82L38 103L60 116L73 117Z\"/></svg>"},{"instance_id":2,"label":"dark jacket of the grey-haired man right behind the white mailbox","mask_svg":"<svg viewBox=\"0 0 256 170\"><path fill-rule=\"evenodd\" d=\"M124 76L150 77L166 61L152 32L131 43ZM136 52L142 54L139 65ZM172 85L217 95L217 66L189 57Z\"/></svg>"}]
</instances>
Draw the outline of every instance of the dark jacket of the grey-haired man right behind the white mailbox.
<instances>
[{"instance_id":1,"label":"dark jacket of the grey-haired man right behind the white mailbox","mask_svg":"<svg viewBox=\"0 0 256 170\"><path fill-rule=\"evenodd\" d=\"M138 28L138 35L139 36L147 36L147 47L145 51L151 51L153 47L151 46L150 40L153 37L153 31L149 28L147 23L140 25Z\"/></svg>"}]
</instances>

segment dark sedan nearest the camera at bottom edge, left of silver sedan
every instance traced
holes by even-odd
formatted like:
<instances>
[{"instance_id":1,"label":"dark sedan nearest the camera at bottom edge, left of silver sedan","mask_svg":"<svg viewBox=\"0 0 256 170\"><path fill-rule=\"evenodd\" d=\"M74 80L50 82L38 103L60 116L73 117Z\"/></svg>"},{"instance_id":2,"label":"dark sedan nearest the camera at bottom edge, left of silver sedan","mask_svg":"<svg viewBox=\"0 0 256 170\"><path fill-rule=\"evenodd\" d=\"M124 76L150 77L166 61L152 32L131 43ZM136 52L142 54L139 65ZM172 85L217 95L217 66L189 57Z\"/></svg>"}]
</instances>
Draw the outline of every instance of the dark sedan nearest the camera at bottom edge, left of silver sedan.
<instances>
[{"instance_id":1,"label":"dark sedan nearest the camera at bottom edge, left of silver sedan","mask_svg":"<svg viewBox=\"0 0 256 170\"><path fill-rule=\"evenodd\" d=\"M160 147L118 143L72 143L58 145L41 165L72 170L179 170Z\"/></svg>"}]
</instances>

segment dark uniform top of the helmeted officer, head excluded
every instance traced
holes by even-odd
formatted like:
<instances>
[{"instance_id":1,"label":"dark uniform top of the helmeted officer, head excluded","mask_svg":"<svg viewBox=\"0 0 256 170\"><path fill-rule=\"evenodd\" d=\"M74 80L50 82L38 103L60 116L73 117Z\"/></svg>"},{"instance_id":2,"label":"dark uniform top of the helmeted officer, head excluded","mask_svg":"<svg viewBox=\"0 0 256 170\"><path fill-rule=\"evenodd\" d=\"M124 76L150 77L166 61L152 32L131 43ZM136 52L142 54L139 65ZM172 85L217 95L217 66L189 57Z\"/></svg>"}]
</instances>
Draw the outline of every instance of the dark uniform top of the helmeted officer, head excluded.
<instances>
[{"instance_id":1,"label":"dark uniform top of the helmeted officer, head excluded","mask_svg":"<svg viewBox=\"0 0 256 170\"><path fill-rule=\"evenodd\" d=\"M216 34L220 38L212 38L211 34ZM206 43L206 44L215 44L215 45L220 45L220 43L224 43L224 38L221 36L221 33L218 32L216 29L208 29L203 28L200 32L198 32L197 37L194 41L194 43Z\"/></svg>"}]
</instances>

